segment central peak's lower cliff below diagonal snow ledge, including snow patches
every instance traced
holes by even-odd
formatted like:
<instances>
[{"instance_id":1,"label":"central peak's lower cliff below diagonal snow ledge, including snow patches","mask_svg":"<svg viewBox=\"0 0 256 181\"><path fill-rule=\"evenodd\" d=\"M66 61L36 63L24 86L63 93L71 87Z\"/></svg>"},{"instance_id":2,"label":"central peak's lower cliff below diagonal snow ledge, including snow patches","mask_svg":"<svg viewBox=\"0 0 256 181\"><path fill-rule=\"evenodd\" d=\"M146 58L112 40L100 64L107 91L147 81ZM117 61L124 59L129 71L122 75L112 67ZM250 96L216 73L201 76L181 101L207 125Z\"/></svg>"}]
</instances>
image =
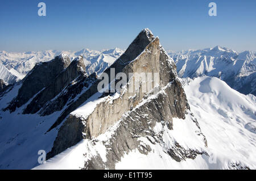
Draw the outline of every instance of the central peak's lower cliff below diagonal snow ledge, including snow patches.
<instances>
[{"instance_id":1,"label":"central peak's lower cliff below diagonal snow ledge, including snow patches","mask_svg":"<svg viewBox=\"0 0 256 181\"><path fill-rule=\"evenodd\" d=\"M180 91L181 94L174 93ZM183 100L185 98L184 92L179 89L176 81L168 83L158 94L144 97L138 106L123 114L114 127L97 137L92 137L93 144L104 145L105 158L99 154L99 150L98 153L96 152L90 157L89 155L94 151L93 149L89 150L86 153L88 158L85 159L83 169L116 169L116 164L122 160L122 157L134 150L144 155L151 152L157 153L159 150L164 151L169 156L168 159L174 159L176 162L184 161L187 158L195 159L197 155L201 154L207 155L203 151L207 146L207 141L201 133L196 119L189 115L189 110L187 112L176 111L174 106L170 106L175 105L174 96L179 96ZM186 105L182 106L182 109L187 109ZM195 132L191 136L200 140L200 147L197 149L187 148L182 145L182 142L176 141L172 137L171 132L174 131L174 124L176 124L173 122L174 117L184 118L179 121L188 124L189 129ZM85 131L88 130L85 129ZM88 134L90 134L89 131L86 132L86 135Z\"/></svg>"}]
</instances>

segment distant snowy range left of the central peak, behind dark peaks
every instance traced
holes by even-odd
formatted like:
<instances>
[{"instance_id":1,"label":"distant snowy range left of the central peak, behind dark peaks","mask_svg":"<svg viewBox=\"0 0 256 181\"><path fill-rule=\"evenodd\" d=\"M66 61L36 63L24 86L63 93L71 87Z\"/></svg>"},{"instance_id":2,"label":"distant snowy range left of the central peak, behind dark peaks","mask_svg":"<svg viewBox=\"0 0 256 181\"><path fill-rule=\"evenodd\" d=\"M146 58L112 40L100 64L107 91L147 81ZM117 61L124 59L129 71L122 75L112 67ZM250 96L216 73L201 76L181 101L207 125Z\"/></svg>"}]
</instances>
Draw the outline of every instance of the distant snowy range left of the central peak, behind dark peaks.
<instances>
[{"instance_id":1,"label":"distant snowy range left of the central peak, behind dark peaks","mask_svg":"<svg viewBox=\"0 0 256 181\"><path fill-rule=\"evenodd\" d=\"M67 54L71 61L82 55L86 72L91 74L95 71L100 74L113 64L122 53L123 50L118 48L101 51L82 49L78 52L46 50L42 52L11 53L2 51L0 52L0 79L7 83L18 82L34 68L36 63L47 62L59 56L59 54Z\"/></svg>"}]
</instances>

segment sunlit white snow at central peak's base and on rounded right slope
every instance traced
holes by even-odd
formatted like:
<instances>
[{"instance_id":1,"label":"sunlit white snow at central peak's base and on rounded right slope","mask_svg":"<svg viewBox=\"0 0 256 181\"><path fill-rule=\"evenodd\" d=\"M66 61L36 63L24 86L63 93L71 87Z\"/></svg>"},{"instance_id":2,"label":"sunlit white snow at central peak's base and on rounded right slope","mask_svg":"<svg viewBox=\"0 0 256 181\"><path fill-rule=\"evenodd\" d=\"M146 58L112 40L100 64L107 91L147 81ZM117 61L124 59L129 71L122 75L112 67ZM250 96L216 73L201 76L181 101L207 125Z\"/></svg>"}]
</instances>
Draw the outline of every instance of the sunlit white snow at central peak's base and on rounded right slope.
<instances>
[{"instance_id":1,"label":"sunlit white snow at central peak's base and on rounded right slope","mask_svg":"<svg viewBox=\"0 0 256 181\"><path fill-rule=\"evenodd\" d=\"M191 112L207 139L207 147L194 136L193 131L196 129L193 128L194 124L190 124L189 116L185 120L174 119L174 129L171 131L160 123L156 124L154 130L163 132L167 147L177 140L184 148L188 146L206 151L208 155L197 155L196 159L176 162L159 144L154 145L141 137L143 144L150 145L152 151L144 155L137 149L132 150L123 155L115 169L256 169L255 96L243 95L214 77L181 81L189 82L184 83L184 90ZM102 141L106 141L116 127L118 123L98 136L96 145L89 140L82 140L35 169L81 169L86 157L93 157L97 153L104 159L106 148Z\"/></svg>"}]
</instances>

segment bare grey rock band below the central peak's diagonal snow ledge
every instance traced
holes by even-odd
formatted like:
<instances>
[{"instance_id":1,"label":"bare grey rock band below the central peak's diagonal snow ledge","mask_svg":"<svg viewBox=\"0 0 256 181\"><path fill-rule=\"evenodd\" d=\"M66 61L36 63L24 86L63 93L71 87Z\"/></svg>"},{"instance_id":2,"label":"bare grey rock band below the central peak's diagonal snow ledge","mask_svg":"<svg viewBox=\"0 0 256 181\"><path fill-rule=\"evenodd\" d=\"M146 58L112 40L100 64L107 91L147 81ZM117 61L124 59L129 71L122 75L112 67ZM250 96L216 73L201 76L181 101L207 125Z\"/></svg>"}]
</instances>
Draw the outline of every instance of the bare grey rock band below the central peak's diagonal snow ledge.
<instances>
[{"instance_id":1,"label":"bare grey rock band below the central peak's diagonal snow ledge","mask_svg":"<svg viewBox=\"0 0 256 181\"><path fill-rule=\"evenodd\" d=\"M184 93L180 90L179 83L175 80L171 86L165 89L166 94L159 94L155 99L143 104L142 107L135 108L126 116L121 117L119 126L106 143L106 149L109 150L105 162L102 161L100 155L92 157L89 161L85 162L84 169L115 169L115 163L121 161L125 153L130 150L138 149L141 154L148 154L151 150L150 146L141 144L139 138L146 137L151 144L159 144L170 155L170 159L180 162L187 158L195 159L198 154L207 154L203 151L184 149L177 142L172 148L165 148L166 145L163 141L163 132L156 133L154 128L156 123L161 123L162 127L172 129L172 117L183 118L185 110L188 109L188 104L184 99ZM170 105L175 103L175 97L181 98L183 102L181 110ZM178 100L179 104L180 100ZM146 115L146 116L144 116ZM70 120L69 120L70 121ZM196 122L196 120L194 120ZM85 130L88 131L88 130ZM198 132L201 133L200 127ZM88 135L87 132L86 135ZM97 141L97 140L96 140ZM205 140L205 144L207 144ZM142 146L143 145L143 146Z\"/></svg>"}]
</instances>

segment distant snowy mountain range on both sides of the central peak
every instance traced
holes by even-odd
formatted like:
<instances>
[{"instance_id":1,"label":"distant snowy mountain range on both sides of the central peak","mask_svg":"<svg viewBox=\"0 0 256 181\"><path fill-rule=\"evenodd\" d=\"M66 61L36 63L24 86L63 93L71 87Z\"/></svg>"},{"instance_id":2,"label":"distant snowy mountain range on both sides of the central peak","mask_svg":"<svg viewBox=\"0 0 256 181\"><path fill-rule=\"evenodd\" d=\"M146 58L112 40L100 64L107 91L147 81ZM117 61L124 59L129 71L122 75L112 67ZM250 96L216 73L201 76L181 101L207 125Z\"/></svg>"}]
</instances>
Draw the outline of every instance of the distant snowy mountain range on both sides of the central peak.
<instances>
[{"instance_id":1,"label":"distant snowy mountain range on both sides of the central peak","mask_svg":"<svg viewBox=\"0 0 256 181\"><path fill-rule=\"evenodd\" d=\"M256 53L236 52L216 46L201 50L167 51L174 59L179 77L195 78L202 75L217 77L242 94L256 95ZM82 49L77 52L46 50L42 52L0 52L0 79L14 83L24 78L36 63L52 60L59 54L67 54L71 61L82 55L86 73L102 73L121 56L119 48L109 50Z\"/></svg>"}]
</instances>

